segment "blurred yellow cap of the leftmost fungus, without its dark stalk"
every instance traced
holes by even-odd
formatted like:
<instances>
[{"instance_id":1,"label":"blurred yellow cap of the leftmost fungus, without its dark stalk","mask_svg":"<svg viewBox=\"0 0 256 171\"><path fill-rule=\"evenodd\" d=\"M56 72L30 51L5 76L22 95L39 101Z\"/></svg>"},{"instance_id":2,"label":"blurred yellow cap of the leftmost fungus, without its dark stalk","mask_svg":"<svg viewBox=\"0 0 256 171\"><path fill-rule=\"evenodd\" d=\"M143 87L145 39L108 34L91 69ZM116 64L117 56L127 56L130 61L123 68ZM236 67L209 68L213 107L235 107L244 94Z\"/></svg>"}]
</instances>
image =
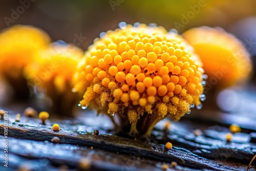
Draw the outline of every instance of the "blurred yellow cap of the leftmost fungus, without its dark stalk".
<instances>
[{"instance_id":1,"label":"blurred yellow cap of the leftmost fungus, without its dark stalk","mask_svg":"<svg viewBox=\"0 0 256 171\"><path fill-rule=\"evenodd\" d=\"M50 37L41 29L22 25L4 29L0 34L0 71L20 76L36 52L49 44Z\"/></svg>"}]
</instances>

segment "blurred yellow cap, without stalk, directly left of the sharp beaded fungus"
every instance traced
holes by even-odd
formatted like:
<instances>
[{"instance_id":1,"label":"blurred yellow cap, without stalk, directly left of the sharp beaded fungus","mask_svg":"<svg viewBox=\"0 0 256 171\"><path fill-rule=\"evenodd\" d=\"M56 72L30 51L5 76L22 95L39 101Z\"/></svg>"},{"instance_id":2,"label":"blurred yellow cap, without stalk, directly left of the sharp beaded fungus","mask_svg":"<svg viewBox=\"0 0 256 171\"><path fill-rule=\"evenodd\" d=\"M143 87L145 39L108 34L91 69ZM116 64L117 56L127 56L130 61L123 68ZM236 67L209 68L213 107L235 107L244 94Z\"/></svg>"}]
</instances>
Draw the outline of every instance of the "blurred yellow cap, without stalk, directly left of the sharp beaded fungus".
<instances>
[{"instance_id":1,"label":"blurred yellow cap, without stalk, directly left of the sharp beaded fungus","mask_svg":"<svg viewBox=\"0 0 256 171\"><path fill-rule=\"evenodd\" d=\"M38 51L37 59L25 68L25 76L35 86L46 88L48 94L71 92L72 79L83 51L59 41Z\"/></svg>"}]
</instances>

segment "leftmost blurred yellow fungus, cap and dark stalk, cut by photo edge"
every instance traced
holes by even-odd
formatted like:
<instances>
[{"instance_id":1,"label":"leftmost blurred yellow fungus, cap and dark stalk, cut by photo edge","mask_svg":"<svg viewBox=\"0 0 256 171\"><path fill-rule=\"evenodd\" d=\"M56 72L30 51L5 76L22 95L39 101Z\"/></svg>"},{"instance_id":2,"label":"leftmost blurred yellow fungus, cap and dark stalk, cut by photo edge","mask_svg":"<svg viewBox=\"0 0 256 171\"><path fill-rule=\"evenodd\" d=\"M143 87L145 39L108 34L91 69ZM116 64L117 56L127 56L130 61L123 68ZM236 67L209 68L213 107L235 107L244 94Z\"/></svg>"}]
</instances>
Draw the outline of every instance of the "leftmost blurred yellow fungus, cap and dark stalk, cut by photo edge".
<instances>
[{"instance_id":1,"label":"leftmost blurred yellow fungus, cap and dark stalk, cut by photo edge","mask_svg":"<svg viewBox=\"0 0 256 171\"><path fill-rule=\"evenodd\" d=\"M50 44L49 35L39 28L15 25L0 33L0 76L14 89L17 98L28 98L30 90L24 68Z\"/></svg>"}]
</instances>

